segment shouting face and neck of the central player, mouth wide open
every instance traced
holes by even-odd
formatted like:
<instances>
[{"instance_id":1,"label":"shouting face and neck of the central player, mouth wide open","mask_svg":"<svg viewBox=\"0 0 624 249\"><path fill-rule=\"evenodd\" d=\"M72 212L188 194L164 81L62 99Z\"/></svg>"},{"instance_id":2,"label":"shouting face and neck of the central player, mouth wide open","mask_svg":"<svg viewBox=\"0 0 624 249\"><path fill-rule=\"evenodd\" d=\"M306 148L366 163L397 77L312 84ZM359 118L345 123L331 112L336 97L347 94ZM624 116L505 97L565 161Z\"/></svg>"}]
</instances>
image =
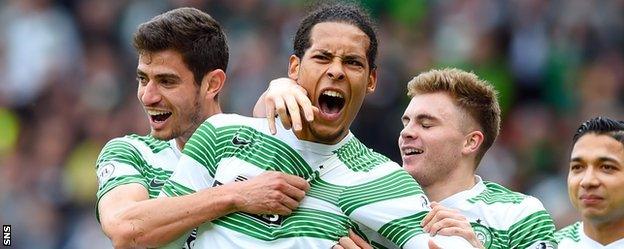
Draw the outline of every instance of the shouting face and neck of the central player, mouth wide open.
<instances>
[{"instance_id":1,"label":"shouting face and neck of the central player, mouth wide open","mask_svg":"<svg viewBox=\"0 0 624 249\"><path fill-rule=\"evenodd\" d=\"M344 23L314 25L311 46L303 58L291 56L289 76L310 94L319 108L300 138L335 144L349 132L364 96L375 90L376 73L368 66L368 36Z\"/></svg>"}]
</instances>

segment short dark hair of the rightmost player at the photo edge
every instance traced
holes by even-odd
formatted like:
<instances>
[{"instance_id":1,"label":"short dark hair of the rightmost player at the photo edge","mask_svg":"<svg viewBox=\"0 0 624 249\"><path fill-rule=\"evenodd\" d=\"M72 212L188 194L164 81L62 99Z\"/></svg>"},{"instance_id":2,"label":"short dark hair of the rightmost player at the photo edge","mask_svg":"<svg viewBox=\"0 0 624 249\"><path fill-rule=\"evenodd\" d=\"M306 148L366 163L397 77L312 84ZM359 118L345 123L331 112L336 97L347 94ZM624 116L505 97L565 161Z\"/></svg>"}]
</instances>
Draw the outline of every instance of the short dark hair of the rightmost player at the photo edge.
<instances>
[{"instance_id":1,"label":"short dark hair of the rightmost player at the photo edge","mask_svg":"<svg viewBox=\"0 0 624 249\"><path fill-rule=\"evenodd\" d=\"M595 117L585 121L576 130L572 144L586 134L607 135L624 145L624 122L608 117Z\"/></svg>"}]
</instances>

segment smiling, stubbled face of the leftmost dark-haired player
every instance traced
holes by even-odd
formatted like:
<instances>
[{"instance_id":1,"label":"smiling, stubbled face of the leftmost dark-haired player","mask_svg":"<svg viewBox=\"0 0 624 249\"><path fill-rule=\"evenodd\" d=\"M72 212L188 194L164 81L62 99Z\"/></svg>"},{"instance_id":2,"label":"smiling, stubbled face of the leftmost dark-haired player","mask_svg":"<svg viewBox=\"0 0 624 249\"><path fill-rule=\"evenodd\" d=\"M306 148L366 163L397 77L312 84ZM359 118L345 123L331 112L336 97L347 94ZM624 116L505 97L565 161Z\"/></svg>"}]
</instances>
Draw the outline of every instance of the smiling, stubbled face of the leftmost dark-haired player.
<instances>
[{"instance_id":1,"label":"smiling, stubbled face of the leftmost dark-haired player","mask_svg":"<svg viewBox=\"0 0 624 249\"><path fill-rule=\"evenodd\" d=\"M201 124L200 88L180 53L142 53L137 80L137 97L147 113L152 136L161 140L190 136Z\"/></svg>"}]
</instances>

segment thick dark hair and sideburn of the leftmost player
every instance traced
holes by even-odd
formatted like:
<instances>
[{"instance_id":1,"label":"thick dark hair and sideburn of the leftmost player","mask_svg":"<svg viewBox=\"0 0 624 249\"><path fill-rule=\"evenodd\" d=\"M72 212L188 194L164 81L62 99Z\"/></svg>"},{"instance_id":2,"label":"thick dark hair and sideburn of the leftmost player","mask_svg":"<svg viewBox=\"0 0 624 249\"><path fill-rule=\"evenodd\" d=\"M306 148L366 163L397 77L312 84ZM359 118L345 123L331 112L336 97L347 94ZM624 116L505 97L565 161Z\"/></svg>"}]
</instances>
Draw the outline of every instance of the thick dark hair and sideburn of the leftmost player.
<instances>
[{"instance_id":1,"label":"thick dark hair and sideburn of the leftmost player","mask_svg":"<svg viewBox=\"0 0 624 249\"><path fill-rule=\"evenodd\" d=\"M201 85L204 75L215 69L226 71L229 52L221 25L195 8L177 8L139 26L133 46L139 52L173 49Z\"/></svg>"}]
</instances>

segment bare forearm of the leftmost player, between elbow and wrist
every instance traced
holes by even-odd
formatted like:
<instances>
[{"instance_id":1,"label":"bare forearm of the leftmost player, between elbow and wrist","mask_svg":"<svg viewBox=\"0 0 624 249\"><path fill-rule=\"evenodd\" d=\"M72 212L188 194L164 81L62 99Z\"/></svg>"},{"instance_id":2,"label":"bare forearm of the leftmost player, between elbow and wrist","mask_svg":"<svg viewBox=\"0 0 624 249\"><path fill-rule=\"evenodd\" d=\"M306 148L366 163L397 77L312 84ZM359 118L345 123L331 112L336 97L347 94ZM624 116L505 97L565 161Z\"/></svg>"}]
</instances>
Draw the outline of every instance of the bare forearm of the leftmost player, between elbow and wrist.
<instances>
[{"instance_id":1,"label":"bare forearm of the leftmost player, between elbow and wrist","mask_svg":"<svg viewBox=\"0 0 624 249\"><path fill-rule=\"evenodd\" d=\"M200 224L236 211L232 192L220 186L197 193L134 202L120 209L105 231L118 248L166 245ZM108 226L108 227L107 227Z\"/></svg>"}]
</instances>

